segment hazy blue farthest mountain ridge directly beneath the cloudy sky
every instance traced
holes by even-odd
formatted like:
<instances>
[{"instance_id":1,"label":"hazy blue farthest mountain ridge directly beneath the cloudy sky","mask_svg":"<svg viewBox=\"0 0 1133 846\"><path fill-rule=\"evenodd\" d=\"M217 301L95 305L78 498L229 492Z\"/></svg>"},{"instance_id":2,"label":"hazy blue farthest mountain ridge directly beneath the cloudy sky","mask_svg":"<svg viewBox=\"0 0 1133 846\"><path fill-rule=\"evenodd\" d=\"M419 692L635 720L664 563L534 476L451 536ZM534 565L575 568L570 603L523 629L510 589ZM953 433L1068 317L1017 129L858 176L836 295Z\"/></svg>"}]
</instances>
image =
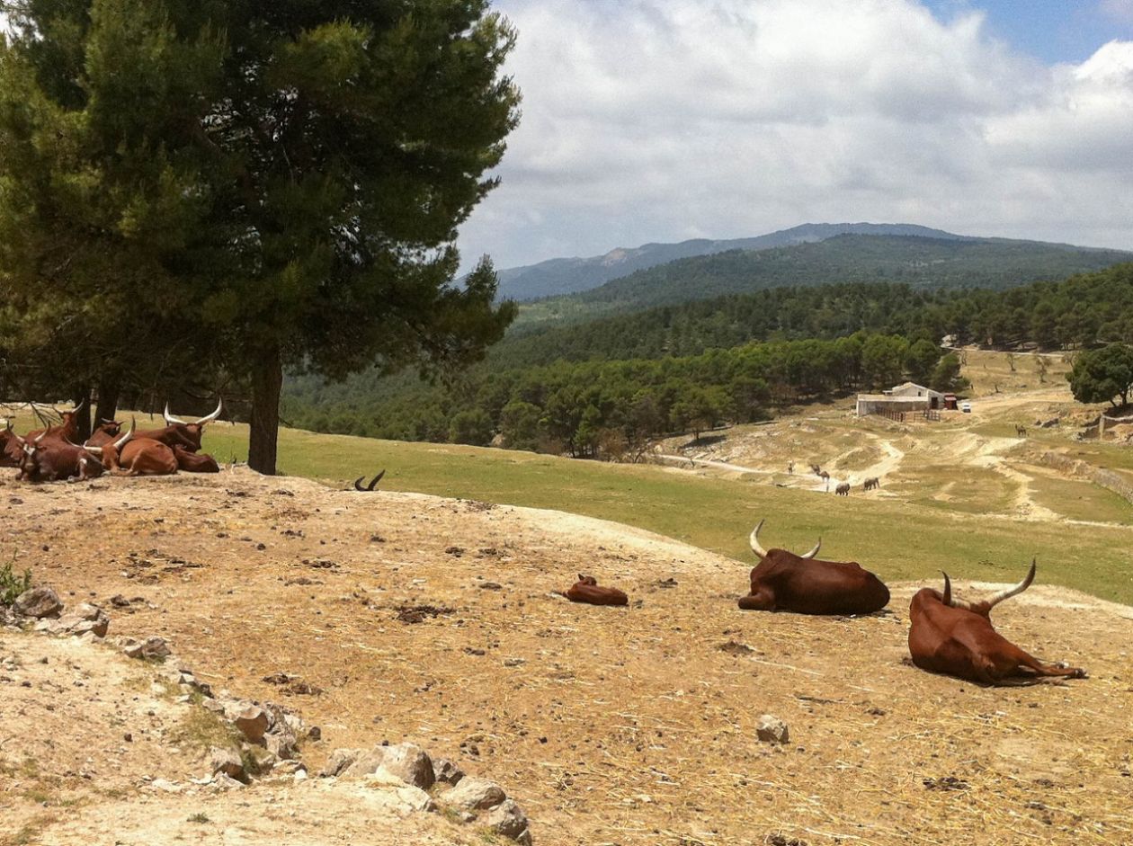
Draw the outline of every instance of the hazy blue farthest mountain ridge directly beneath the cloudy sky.
<instances>
[{"instance_id":1,"label":"hazy blue farthest mountain ridge directly beneath the cloudy sky","mask_svg":"<svg viewBox=\"0 0 1133 846\"><path fill-rule=\"evenodd\" d=\"M825 241L843 234L917 236L942 240L972 240L939 229L910 223L803 223L755 238L733 238L714 241L697 238L680 243L645 243L640 247L613 249L604 256L590 258L551 258L525 267L496 271L500 279L500 299L525 300L557 297L597 288L612 279L628 276L634 271L648 270L659 264L708 256L729 250L760 250L790 247L796 243Z\"/></svg>"}]
</instances>

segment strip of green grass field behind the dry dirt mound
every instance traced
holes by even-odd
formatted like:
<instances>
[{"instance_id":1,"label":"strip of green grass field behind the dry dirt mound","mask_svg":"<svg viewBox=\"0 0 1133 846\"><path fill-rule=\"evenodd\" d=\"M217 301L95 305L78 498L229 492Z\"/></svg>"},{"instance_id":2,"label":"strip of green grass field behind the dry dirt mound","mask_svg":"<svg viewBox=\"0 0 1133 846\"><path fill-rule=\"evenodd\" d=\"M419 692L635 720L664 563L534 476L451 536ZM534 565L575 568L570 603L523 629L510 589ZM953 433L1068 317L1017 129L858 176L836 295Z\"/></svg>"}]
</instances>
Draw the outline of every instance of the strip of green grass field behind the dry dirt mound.
<instances>
[{"instance_id":1,"label":"strip of green grass field behind the dry dirt mound","mask_svg":"<svg viewBox=\"0 0 1133 846\"><path fill-rule=\"evenodd\" d=\"M244 458L247 428L221 424L205 448ZM1025 522L864 497L702 478L653 465L606 464L470 446L280 431L282 472L346 487L385 468L382 488L555 509L640 527L751 562L747 537L767 519L767 544L854 559L889 580L939 571L1011 581L1039 559L1039 580L1133 604L1133 530ZM978 512L978 509L973 509Z\"/></svg>"}]
</instances>

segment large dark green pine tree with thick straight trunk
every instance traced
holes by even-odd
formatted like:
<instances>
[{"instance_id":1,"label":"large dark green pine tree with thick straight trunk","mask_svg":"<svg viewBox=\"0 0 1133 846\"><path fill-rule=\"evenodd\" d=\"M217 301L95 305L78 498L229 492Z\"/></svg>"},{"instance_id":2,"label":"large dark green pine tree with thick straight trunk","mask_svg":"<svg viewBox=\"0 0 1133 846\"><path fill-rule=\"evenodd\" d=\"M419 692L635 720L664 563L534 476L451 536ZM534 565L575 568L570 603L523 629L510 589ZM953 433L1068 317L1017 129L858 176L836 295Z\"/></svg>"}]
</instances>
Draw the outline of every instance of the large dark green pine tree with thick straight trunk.
<instances>
[{"instance_id":1,"label":"large dark green pine tree with thick straight trunk","mask_svg":"<svg viewBox=\"0 0 1133 846\"><path fill-rule=\"evenodd\" d=\"M130 367L223 367L271 473L283 368L429 368L502 335L491 264L453 283L518 120L487 0L6 7L0 308L87 327L83 378L123 333Z\"/></svg>"}]
</instances>

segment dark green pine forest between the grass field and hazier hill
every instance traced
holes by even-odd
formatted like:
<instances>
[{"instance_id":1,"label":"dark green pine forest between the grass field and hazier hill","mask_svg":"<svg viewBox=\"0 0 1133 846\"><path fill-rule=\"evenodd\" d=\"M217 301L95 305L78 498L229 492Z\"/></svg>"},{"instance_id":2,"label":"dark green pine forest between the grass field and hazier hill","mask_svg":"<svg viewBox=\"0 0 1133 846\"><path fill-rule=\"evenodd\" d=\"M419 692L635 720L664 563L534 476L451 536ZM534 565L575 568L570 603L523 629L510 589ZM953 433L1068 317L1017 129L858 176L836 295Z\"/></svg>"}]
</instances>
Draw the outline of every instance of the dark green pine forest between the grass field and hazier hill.
<instances>
[{"instance_id":1,"label":"dark green pine forest between the grass field and hazier hill","mask_svg":"<svg viewBox=\"0 0 1133 846\"><path fill-rule=\"evenodd\" d=\"M505 341L452 385L291 378L283 409L318 431L610 454L903 377L948 387L946 334L1043 349L1133 341L1133 263L1007 291L841 284L659 308Z\"/></svg>"}]
</instances>

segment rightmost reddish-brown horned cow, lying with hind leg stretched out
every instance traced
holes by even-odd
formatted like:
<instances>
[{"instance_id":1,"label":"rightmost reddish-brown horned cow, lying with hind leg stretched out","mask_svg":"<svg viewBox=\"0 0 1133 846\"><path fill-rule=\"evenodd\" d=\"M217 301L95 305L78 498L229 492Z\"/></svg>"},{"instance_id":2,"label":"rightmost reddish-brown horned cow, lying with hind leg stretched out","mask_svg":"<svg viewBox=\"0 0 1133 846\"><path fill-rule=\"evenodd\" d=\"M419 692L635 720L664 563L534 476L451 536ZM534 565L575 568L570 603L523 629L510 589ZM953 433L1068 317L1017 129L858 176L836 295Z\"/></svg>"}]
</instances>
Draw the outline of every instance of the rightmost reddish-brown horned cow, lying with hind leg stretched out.
<instances>
[{"instance_id":1,"label":"rightmost reddish-brown horned cow, lying with hind leg stretched out","mask_svg":"<svg viewBox=\"0 0 1133 846\"><path fill-rule=\"evenodd\" d=\"M944 573L943 595L931 588L917 591L909 606L909 651L913 664L930 673L988 685L1020 684L1042 676L1085 678L1084 669L1043 664L993 629L991 609L1022 593L1033 580L1032 561L1023 581L982 603L954 598L947 573Z\"/></svg>"}]
</instances>

